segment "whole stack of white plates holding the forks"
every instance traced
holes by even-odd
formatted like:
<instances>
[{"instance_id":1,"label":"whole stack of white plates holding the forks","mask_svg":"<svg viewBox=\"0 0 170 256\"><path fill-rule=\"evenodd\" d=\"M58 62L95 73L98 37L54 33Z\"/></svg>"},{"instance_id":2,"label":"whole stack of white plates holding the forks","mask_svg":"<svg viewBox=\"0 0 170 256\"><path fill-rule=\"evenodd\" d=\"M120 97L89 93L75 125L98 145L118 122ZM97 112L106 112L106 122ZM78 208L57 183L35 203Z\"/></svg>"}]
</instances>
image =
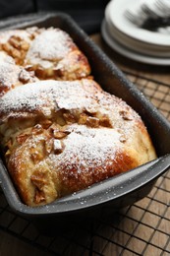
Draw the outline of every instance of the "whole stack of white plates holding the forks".
<instances>
[{"instance_id":1,"label":"whole stack of white plates holding the forks","mask_svg":"<svg viewBox=\"0 0 170 256\"><path fill-rule=\"evenodd\" d=\"M105 9L101 33L111 48L131 59L154 65L170 65L170 32L149 32L132 24L127 10L139 7L137 0L112 0ZM139 18L140 19L140 18Z\"/></svg>"}]
</instances>

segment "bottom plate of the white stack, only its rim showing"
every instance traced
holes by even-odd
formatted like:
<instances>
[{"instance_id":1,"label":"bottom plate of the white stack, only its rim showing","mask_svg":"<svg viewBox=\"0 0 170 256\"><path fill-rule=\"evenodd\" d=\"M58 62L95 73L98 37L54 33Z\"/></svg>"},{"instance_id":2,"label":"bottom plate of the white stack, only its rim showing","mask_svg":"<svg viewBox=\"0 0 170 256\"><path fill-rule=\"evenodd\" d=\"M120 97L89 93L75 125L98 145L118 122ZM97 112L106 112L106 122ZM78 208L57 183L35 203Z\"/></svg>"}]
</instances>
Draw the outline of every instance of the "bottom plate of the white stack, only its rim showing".
<instances>
[{"instance_id":1,"label":"bottom plate of the white stack, only its rim showing","mask_svg":"<svg viewBox=\"0 0 170 256\"><path fill-rule=\"evenodd\" d=\"M101 25L101 34L106 41L106 43L114 50L122 54L123 56L126 56L130 59L142 62L142 63L147 63L147 64L152 64L152 65L162 65L162 66L167 66L170 65L170 58L156 58L152 56L147 56L144 54L140 54L137 52L134 52L123 45L121 45L118 41L116 41L108 32L107 24L105 20L102 22Z\"/></svg>"}]
</instances>

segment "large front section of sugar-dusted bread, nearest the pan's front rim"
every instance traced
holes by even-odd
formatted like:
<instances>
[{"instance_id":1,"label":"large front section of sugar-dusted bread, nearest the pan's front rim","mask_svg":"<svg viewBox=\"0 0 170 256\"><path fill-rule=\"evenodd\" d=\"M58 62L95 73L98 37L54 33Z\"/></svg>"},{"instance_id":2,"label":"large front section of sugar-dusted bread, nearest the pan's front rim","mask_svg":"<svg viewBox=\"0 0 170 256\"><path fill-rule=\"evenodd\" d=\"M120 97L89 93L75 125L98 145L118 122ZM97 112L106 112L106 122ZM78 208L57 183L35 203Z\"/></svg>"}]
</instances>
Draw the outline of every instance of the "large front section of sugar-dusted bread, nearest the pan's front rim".
<instances>
[{"instance_id":1,"label":"large front section of sugar-dusted bread, nearest the pan's front rim","mask_svg":"<svg viewBox=\"0 0 170 256\"><path fill-rule=\"evenodd\" d=\"M141 117L125 101L89 78L39 79L15 82L0 100L1 147L28 206L48 204L156 158Z\"/></svg>"}]
</instances>

